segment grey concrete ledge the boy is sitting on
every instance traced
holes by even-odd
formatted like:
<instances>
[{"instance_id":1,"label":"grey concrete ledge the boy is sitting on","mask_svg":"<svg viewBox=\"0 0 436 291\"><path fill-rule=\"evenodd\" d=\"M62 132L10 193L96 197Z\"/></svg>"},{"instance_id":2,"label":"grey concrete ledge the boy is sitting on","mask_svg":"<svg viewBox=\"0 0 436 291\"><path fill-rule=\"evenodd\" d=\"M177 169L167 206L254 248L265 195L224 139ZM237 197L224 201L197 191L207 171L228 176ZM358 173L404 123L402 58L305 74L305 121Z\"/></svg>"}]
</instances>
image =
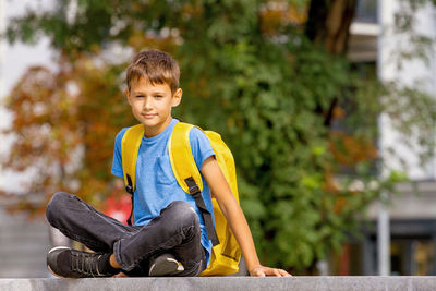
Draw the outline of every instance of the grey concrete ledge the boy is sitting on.
<instances>
[{"instance_id":1,"label":"grey concrete ledge the boy is sitting on","mask_svg":"<svg viewBox=\"0 0 436 291\"><path fill-rule=\"evenodd\" d=\"M422 291L436 290L436 277L0 279L0 290Z\"/></svg>"}]
</instances>

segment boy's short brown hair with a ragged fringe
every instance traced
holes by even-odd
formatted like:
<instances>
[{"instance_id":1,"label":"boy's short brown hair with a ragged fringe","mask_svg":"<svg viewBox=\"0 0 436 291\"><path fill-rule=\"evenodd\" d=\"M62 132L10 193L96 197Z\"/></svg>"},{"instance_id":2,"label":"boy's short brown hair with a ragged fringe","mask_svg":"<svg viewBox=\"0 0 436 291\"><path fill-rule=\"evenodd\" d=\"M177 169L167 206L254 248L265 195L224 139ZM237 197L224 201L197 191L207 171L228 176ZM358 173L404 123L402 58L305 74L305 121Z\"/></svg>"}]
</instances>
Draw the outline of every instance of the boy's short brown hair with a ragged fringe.
<instances>
[{"instance_id":1,"label":"boy's short brown hair with a ragged fringe","mask_svg":"<svg viewBox=\"0 0 436 291\"><path fill-rule=\"evenodd\" d=\"M128 68L128 87L134 81L145 77L152 85L168 84L171 93L179 88L180 69L178 62L167 52L144 50L133 57Z\"/></svg>"}]
</instances>

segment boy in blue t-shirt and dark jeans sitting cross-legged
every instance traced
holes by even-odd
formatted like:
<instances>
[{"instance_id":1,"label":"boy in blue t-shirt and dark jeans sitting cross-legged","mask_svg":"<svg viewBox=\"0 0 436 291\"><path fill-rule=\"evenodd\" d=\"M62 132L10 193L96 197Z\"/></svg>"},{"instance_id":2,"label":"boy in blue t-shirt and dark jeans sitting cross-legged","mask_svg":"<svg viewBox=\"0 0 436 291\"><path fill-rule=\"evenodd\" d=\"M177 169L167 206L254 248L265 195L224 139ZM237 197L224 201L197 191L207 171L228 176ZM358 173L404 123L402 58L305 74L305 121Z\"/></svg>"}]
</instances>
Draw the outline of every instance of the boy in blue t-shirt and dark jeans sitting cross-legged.
<instances>
[{"instance_id":1,"label":"boy in blue t-shirt and dark jeans sitting cross-legged","mask_svg":"<svg viewBox=\"0 0 436 291\"><path fill-rule=\"evenodd\" d=\"M197 276L207 268L211 241L195 201L177 184L168 156L168 141L178 120L171 109L182 99L179 65L166 52L146 50L128 68L126 98L133 116L144 125L136 165L134 226L107 217L75 195L57 193L47 206L47 219L66 237L96 253L55 247L48 268L59 277ZM112 173L123 177L121 140L116 138ZM193 129L191 149L202 173L205 205L213 214L214 193L240 244L250 275L290 276L259 264L242 209L215 159L206 135Z\"/></svg>"}]
</instances>

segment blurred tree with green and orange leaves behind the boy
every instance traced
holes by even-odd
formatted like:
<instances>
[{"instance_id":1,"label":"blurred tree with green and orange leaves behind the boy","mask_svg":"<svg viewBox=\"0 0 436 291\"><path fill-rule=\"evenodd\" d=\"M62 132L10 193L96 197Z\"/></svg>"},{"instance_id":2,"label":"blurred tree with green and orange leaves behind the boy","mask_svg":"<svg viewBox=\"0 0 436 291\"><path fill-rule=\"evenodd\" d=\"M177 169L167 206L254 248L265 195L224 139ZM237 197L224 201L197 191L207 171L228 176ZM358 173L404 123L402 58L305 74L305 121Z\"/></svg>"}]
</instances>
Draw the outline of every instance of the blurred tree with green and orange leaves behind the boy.
<instances>
[{"instance_id":1,"label":"blurred tree with green and orange leaves behind the boy","mask_svg":"<svg viewBox=\"0 0 436 291\"><path fill-rule=\"evenodd\" d=\"M398 180L374 173L379 96L392 88L343 57L354 1L77 0L74 13L71 2L28 11L8 28L11 41L47 35L59 52L56 72L29 70L8 102L16 141L7 167L37 167L33 191L73 191L94 203L121 195L109 191L113 137L134 124L122 69L144 48L180 62L184 101L175 116L220 132L232 149L263 262L314 266ZM429 113L413 125L433 124L434 101L414 102ZM335 130L338 121L352 131ZM350 187L355 178L359 189Z\"/></svg>"}]
</instances>

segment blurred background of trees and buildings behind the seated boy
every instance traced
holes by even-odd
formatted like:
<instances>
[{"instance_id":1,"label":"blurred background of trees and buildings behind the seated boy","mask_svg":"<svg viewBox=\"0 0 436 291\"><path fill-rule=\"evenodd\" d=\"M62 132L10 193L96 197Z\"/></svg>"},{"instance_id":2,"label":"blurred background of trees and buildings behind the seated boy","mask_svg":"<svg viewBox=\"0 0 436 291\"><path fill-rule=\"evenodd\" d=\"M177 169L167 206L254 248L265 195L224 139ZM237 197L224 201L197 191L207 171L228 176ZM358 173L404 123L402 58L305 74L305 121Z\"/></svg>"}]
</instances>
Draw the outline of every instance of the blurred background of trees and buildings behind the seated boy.
<instances>
[{"instance_id":1,"label":"blurred background of trees and buildings behind the seated boy","mask_svg":"<svg viewBox=\"0 0 436 291\"><path fill-rule=\"evenodd\" d=\"M181 66L174 117L218 131L264 264L293 275L436 275L435 0L0 0L0 277L76 245L66 191L121 221L124 70Z\"/></svg>"}]
</instances>

